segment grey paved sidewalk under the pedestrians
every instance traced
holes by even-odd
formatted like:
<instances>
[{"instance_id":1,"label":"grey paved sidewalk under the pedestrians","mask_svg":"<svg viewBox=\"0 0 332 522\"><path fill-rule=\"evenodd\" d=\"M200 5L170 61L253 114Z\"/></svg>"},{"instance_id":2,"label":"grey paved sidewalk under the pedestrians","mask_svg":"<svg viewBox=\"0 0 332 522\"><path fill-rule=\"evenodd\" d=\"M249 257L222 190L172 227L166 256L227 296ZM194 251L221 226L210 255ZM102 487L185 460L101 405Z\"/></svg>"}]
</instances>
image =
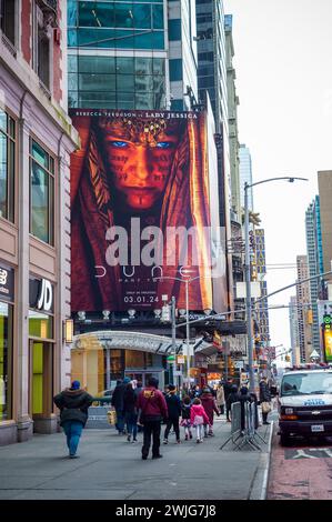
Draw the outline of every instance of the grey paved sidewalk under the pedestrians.
<instances>
[{"instance_id":1,"label":"grey paved sidewalk under the pedestrians","mask_svg":"<svg viewBox=\"0 0 332 522\"><path fill-rule=\"evenodd\" d=\"M34 435L0 448L0 499L224 500L262 499L270 444L232 451L230 423L215 419L214 438L182 444L169 436L163 459L141 460L141 440L127 442L113 429L84 430L80 459L69 459L64 435ZM163 433L164 426L162 426ZM270 441L270 426L260 434ZM183 430L181 431L183 439Z\"/></svg>"}]
</instances>

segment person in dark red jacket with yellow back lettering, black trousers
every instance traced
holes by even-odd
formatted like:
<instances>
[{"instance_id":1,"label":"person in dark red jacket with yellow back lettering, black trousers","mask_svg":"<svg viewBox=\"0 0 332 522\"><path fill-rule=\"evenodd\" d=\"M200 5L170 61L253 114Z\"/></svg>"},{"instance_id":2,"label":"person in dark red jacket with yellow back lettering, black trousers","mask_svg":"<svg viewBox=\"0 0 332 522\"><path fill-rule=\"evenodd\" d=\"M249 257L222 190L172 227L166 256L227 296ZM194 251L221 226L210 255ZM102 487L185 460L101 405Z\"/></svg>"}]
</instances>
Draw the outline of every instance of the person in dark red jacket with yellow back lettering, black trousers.
<instances>
[{"instance_id":1,"label":"person in dark red jacket with yellow back lettering, black trousers","mask_svg":"<svg viewBox=\"0 0 332 522\"><path fill-rule=\"evenodd\" d=\"M138 409L140 423L143 424L142 459L148 459L151 436L152 459L160 459L161 421L168 418L168 406L162 392L158 390L158 379L151 377L148 380L148 387L139 394Z\"/></svg>"}]
</instances>

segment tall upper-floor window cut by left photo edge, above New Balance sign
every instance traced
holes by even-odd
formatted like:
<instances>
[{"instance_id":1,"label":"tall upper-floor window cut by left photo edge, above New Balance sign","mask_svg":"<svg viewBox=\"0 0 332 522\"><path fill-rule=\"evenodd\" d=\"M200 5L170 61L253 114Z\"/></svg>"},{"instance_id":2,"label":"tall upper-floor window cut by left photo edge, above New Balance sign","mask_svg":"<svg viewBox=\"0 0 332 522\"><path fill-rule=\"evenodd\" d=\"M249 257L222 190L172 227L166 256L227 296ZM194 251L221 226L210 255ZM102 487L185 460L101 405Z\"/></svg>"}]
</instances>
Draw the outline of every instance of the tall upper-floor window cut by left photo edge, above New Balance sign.
<instances>
[{"instance_id":1,"label":"tall upper-floor window cut by left photo edge, above New Balance sign","mask_svg":"<svg viewBox=\"0 0 332 522\"><path fill-rule=\"evenodd\" d=\"M0 217L14 219L16 122L0 109Z\"/></svg>"}]
</instances>

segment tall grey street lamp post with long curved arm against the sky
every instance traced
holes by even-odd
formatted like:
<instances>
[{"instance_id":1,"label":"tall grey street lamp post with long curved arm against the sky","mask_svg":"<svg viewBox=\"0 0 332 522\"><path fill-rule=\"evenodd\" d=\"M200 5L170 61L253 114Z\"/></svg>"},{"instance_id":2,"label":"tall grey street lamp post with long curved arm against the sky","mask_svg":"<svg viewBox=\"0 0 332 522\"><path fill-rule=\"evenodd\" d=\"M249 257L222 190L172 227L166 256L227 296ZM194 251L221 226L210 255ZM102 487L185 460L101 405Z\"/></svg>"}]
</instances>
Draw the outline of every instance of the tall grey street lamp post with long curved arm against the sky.
<instances>
[{"instance_id":1,"label":"tall grey street lamp post with long curved arm against the sky","mask_svg":"<svg viewBox=\"0 0 332 522\"><path fill-rule=\"evenodd\" d=\"M245 317L247 317L247 345L248 345L248 364L249 364L249 382L250 391L254 392L254 372L253 372L253 335L252 335L252 307L251 307L251 260L250 260L250 245L249 245L249 195L248 189L255 187L256 184L268 183L270 181L288 180L293 182L294 180L308 181L305 178L270 178L268 180L258 181L256 183L249 184L244 183L244 243L245 243L245 261L244 261L244 273L245 273Z\"/></svg>"}]
</instances>

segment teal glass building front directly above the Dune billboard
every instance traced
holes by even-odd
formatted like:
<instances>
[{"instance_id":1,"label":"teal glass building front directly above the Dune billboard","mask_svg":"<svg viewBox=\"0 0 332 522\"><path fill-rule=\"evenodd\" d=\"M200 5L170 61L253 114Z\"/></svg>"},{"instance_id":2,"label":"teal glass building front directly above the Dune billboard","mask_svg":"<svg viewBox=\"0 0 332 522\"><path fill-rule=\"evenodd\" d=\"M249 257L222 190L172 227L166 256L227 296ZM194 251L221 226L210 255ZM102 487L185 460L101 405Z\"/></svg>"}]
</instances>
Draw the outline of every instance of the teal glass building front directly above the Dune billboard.
<instances>
[{"instance_id":1,"label":"teal glass building front directly above the Dune billboard","mask_svg":"<svg viewBox=\"0 0 332 522\"><path fill-rule=\"evenodd\" d=\"M69 107L165 109L167 1L68 1Z\"/></svg>"}]
</instances>

